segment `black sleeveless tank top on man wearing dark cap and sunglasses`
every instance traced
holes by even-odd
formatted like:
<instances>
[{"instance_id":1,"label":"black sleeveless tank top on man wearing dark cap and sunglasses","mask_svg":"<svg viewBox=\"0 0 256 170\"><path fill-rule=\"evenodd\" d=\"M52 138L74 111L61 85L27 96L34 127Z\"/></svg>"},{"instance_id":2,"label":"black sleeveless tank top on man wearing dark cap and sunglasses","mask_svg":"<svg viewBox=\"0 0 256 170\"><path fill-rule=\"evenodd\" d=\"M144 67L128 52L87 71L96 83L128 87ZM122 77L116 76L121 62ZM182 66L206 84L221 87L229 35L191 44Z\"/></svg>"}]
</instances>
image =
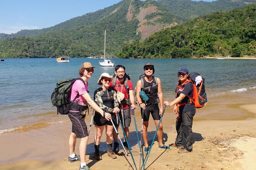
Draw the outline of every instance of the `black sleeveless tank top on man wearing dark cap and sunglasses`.
<instances>
[{"instance_id":1,"label":"black sleeveless tank top on man wearing dark cap and sunglasses","mask_svg":"<svg viewBox=\"0 0 256 170\"><path fill-rule=\"evenodd\" d=\"M150 82L150 83L145 80L145 77L143 77L142 79L144 79L144 80L143 80L143 82L144 82L144 88L150 87L150 86L152 86L152 85L157 84L157 82L155 82L155 79L154 79L154 78L153 78L153 81ZM158 93L158 85L157 85L157 86L154 86L154 87L147 88L147 89L145 90L145 93L146 93L146 95L148 96L148 101L147 101L147 103L157 103L157 102L158 102L158 95L157 95L157 93Z\"/></svg>"}]
</instances>

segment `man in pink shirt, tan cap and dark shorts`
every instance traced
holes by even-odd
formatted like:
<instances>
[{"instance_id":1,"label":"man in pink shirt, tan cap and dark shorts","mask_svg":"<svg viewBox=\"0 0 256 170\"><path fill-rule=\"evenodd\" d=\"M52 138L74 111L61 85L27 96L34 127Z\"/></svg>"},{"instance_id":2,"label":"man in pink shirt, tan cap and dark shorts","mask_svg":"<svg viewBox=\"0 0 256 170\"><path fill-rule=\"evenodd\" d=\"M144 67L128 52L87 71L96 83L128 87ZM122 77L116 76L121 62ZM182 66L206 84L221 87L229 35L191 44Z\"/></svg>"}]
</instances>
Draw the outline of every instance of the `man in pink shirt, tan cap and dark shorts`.
<instances>
[{"instance_id":1,"label":"man in pink shirt, tan cap and dark shorts","mask_svg":"<svg viewBox=\"0 0 256 170\"><path fill-rule=\"evenodd\" d=\"M106 118L107 120L111 120L111 114L105 113L102 109L100 109L88 94L88 79L91 78L94 68L95 67L91 66L91 63L89 62L85 62L81 65L78 73L80 79L73 83L70 101L75 99L74 102L81 106L88 106L90 104L90 106L93 107L95 111L99 112L102 117ZM90 170L85 162L86 146L89 139L87 126L85 123L85 113L80 113L77 108L71 107L68 117L72 122L72 132L68 141L70 151L68 162L81 160L80 170ZM77 138L81 139L79 146L80 157L75 154L75 143Z\"/></svg>"}]
</instances>

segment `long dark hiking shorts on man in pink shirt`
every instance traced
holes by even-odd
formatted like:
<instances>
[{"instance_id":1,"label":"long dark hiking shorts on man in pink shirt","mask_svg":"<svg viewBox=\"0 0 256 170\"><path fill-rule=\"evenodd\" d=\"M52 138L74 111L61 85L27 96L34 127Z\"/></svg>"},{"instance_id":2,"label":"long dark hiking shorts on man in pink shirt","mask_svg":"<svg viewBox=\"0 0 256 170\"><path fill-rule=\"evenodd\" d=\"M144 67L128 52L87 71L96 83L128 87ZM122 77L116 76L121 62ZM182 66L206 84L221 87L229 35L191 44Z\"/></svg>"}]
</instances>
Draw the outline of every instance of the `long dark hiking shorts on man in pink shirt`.
<instances>
[{"instance_id":1,"label":"long dark hiking shorts on man in pink shirt","mask_svg":"<svg viewBox=\"0 0 256 170\"><path fill-rule=\"evenodd\" d=\"M80 112L69 112L68 117L72 122L72 132L77 135L77 138L89 136L85 123L85 115L80 114Z\"/></svg>"}]
</instances>

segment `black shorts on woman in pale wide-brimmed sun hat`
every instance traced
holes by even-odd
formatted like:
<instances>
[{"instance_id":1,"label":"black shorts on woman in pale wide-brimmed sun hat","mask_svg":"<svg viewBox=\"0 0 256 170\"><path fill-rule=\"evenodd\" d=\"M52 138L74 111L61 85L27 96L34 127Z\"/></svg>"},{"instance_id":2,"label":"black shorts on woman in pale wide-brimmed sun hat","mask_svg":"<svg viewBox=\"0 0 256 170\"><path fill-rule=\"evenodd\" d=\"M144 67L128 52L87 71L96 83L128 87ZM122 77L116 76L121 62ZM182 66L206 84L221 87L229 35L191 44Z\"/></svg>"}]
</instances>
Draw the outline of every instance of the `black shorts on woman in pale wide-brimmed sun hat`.
<instances>
[{"instance_id":1,"label":"black shorts on woman in pale wide-brimmed sun hat","mask_svg":"<svg viewBox=\"0 0 256 170\"><path fill-rule=\"evenodd\" d=\"M117 127L119 125L119 123L116 120L116 114L111 113L111 117L112 117L115 127ZM95 112L95 115L93 117L93 124L97 125L97 126L104 126L104 125L112 126L112 122L110 120L107 120L107 119L101 117L101 114L99 114L98 112Z\"/></svg>"}]
</instances>

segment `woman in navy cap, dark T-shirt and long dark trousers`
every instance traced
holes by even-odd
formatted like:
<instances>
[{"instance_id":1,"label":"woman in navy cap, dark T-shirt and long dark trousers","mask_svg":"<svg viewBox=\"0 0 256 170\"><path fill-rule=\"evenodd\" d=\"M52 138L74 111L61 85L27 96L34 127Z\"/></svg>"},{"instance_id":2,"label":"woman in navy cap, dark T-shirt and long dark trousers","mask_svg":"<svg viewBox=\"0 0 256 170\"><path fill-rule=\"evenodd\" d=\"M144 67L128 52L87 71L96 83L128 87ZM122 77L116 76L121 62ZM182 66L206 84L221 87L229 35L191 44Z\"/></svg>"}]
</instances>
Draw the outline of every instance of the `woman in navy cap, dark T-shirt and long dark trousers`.
<instances>
[{"instance_id":1,"label":"woman in navy cap, dark T-shirt and long dark trousers","mask_svg":"<svg viewBox=\"0 0 256 170\"><path fill-rule=\"evenodd\" d=\"M192 123L193 117L196 114L196 107L190 100L193 98L193 85L188 78L188 69L181 67L178 70L178 86L175 90L176 99L171 101L165 101L166 106L173 106L174 114L178 114L176 120L177 137L175 143L172 145L174 148L178 148L180 154L187 154L192 152ZM183 146L183 134L185 136L185 144ZM182 147L183 146L183 147Z\"/></svg>"}]
</instances>

